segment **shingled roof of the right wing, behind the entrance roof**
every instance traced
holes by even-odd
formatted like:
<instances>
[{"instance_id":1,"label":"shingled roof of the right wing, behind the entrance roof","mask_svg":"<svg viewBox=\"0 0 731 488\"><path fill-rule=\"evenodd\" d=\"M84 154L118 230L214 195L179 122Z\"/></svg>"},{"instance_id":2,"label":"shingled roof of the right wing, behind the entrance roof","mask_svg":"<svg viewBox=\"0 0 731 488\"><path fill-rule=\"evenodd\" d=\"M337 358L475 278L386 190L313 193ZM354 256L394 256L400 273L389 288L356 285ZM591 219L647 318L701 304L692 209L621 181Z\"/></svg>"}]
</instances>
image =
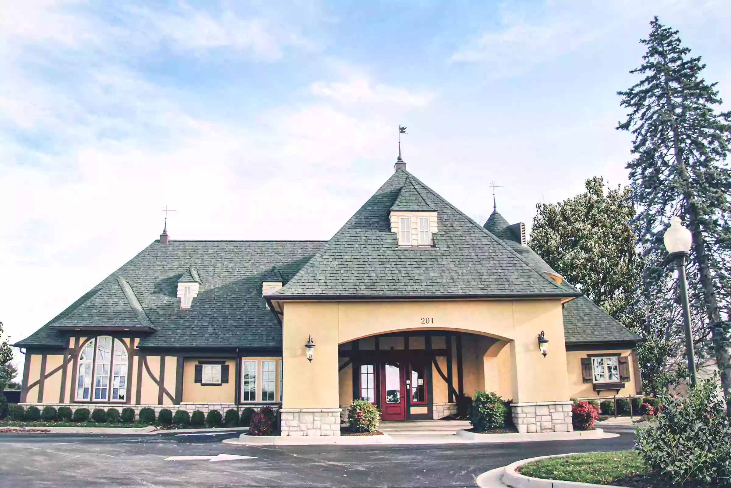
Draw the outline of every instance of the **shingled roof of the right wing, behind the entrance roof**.
<instances>
[{"instance_id":1,"label":"shingled roof of the right wing, behind the entrance roof","mask_svg":"<svg viewBox=\"0 0 731 488\"><path fill-rule=\"evenodd\" d=\"M485 222L485 229L504 240L534 270L558 275L533 249L521 245L508 226L507 221L497 211ZM581 293L567 281L563 284L577 294ZM583 294L564 304L564 335L567 343L636 342L640 339Z\"/></svg>"}]
</instances>

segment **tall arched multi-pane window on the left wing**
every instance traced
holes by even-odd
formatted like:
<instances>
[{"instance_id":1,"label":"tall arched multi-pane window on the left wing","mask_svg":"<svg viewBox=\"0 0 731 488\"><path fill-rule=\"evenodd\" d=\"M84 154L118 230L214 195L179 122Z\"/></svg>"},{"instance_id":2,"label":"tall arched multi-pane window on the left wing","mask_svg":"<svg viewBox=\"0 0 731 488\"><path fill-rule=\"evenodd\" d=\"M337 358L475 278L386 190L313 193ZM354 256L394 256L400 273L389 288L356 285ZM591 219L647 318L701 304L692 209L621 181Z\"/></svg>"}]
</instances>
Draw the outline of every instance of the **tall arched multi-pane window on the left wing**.
<instances>
[{"instance_id":1,"label":"tall arched multi-pane window on the left wing","mask_svg":"<svg viewBox=\"0 0 731 488\"><path fill-rule=\"evenodd\" d=\"M93 389L91 387L92 372L94 373ZM76 400L124 401L126 399L126 377L127 351L121 340L110 338L108 335L91 339L79 354Z\"/></svg>"}]
</instances>

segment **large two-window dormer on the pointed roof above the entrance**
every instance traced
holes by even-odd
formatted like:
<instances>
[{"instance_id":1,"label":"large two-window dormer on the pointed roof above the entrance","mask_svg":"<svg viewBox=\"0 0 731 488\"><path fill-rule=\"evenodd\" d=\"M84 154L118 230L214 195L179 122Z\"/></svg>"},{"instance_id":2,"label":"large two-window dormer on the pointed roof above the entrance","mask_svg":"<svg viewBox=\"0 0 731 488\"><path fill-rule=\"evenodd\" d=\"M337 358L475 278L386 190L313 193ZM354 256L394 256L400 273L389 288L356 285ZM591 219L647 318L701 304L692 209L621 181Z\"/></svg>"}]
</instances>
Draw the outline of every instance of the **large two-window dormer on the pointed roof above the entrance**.
<instances>
[{"instance_id":1,"label":"large two-window dormer on the pointed roof above the entrance","mask_svg":"<svg viewBox=\"0 0 731 488\"><path fill-rule=\"evenodd\" d=\"M429 205L410 178L398 192L391 205L389 219L391 232L398 237L398 245L433 247L433 233L438 232L436 210Z\"/></svg>"}]
</instances>

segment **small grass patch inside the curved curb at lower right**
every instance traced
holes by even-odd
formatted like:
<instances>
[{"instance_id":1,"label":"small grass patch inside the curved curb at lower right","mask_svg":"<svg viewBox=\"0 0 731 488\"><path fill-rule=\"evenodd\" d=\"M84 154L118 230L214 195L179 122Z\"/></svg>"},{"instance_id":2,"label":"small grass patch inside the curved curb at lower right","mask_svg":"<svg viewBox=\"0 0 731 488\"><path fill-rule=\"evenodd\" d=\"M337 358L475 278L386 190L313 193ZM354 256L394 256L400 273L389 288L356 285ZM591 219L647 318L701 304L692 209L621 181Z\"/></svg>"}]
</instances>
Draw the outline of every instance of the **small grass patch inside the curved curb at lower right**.
<instances>
[{"instance_id":1,"label":"small grass patch inside the curved curb at lower right","mask_svg":"<svg viewBox=\"0 0 731 488\"><path fill-rule=\"evenodd\" d=\"M615 484L624 487L651 486L629 479L647 473L647 466L635 451L590 452L550 457L520 466L520 474L534 478L581 483ZM623 482L623 481L629 482Z\"/></svg>"}]
</instances>

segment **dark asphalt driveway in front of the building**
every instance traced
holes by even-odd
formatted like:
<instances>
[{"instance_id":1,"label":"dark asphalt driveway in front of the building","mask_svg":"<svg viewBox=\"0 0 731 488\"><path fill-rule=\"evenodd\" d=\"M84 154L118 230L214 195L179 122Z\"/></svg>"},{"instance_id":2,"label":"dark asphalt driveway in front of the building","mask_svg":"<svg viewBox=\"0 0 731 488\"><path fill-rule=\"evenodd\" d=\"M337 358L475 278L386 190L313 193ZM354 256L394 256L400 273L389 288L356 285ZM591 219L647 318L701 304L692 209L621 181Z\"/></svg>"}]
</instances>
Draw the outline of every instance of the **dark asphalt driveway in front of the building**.
<instances>
[{"instance_id":1,"label":"dark asphalt driveway in front of the building","mask_svg":"<svg viewBox=\"0 0 731 488\"><path fill-rule=\"evenodd\" d=\"M238 433L0 434L0 487L472 487L480 473L527 457L632 448L632 427L605 430L621 436L501 444L273 447L221 443ZM167 460L219 454L242 458Z\"/></svg>"}]
</instances>

